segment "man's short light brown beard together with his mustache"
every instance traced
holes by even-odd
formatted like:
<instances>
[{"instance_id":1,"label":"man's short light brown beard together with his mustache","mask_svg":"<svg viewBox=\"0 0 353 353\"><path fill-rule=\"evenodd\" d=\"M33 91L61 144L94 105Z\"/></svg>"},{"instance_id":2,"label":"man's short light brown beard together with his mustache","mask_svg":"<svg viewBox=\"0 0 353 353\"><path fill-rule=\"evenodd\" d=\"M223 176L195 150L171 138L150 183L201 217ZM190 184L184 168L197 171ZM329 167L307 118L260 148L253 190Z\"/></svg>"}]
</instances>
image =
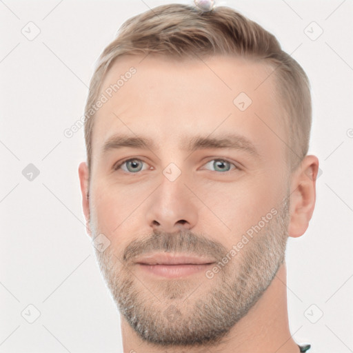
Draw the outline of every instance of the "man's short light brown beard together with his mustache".
<instances>
[{"instance_id":1,"label":"man's short light brown beard together with his mustache","mask_svg":"<svg viewBox=\"0 0 353 353\"><path fill-rule=\"evenodd\" d=\"M277 214L212 279L151 283L134 271L132 260L149 252L209 255L219 261L230 252L210 237L190 231L156 231L134 239L120 256L112 247L104 252L96 249L95 254L120 314L143 341L155 347L211 347L248 313L274 279L285 259L289 221L285 199Z\"/></svg>"}]
</instances>

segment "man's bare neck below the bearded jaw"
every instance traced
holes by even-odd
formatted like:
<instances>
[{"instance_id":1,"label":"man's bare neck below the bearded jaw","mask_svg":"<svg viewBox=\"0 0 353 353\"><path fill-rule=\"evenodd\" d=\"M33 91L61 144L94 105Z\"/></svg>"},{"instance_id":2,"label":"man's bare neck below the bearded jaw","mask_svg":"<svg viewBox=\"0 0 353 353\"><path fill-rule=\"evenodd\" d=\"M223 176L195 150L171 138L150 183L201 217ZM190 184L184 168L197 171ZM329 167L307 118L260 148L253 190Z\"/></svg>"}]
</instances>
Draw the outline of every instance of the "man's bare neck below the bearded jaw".
<instances>
[{"instance_id":1,"label":"man's bare neck below the bearded jaw","mask_svg":"<svg viewBox=\"0 0 353 353\"><path fill-rule=\"evenodd\" d=\"M290 334L287 308L286 268L282 263L276 276L259 301L234 327L223 341L207 352L216 353L299 353ZM124 353L182 353L185 347L152 347L142 341L121 317ZM205 347L188 347L188 353L205 352Z\"/></svg>"}]
</instances>

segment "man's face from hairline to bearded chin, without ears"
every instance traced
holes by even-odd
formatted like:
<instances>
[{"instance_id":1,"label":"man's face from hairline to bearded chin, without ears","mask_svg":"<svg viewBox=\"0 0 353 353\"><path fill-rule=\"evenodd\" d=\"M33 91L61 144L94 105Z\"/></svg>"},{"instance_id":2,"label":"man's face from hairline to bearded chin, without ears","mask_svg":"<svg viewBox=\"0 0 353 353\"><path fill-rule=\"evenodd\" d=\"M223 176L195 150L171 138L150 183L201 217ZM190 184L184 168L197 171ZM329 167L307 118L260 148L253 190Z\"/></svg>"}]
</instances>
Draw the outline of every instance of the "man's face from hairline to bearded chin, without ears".
<instances>
[{"instance_id":1,"label":"man's face from hairline to bearded chin, without ears","mask_svg":"<svg viewBox=\"0 0 353 353\"><path fill-rule=\"evenodd\" d=\"M123 319L142 339L216 342L252 308L284 259L288 137L274 75L236 58L142 59L121 57L101 89L136 68L94 121L90 230L110 241L95 250L97 260ZM104 150L118 134L154 146L110 143ZM198 137L205 141L190 150ZM165 252L208 264L141 263Z\"/></svg>"}]
</instances>

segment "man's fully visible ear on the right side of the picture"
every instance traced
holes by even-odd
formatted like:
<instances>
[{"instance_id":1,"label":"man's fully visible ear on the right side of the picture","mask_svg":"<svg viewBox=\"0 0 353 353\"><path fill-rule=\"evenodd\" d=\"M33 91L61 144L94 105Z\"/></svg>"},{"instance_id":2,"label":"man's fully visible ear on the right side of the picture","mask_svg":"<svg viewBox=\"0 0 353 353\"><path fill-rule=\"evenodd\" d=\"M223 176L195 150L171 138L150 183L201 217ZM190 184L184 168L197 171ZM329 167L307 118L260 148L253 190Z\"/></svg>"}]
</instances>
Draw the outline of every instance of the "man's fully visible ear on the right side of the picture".
<instances>
[{"instance_id":1,"label":"man's fully visible ear on the right side of the picture","mask_svg":"<svg viewBox=\"0 0 353 353\"><path fill-rule=\"evenodd\" d=\"M288 235L294 238L304 234L312 218L316 200L316 176L319 159L305 156L292 175L290 196L290 225Z\"/></svg>"}]
</instances>

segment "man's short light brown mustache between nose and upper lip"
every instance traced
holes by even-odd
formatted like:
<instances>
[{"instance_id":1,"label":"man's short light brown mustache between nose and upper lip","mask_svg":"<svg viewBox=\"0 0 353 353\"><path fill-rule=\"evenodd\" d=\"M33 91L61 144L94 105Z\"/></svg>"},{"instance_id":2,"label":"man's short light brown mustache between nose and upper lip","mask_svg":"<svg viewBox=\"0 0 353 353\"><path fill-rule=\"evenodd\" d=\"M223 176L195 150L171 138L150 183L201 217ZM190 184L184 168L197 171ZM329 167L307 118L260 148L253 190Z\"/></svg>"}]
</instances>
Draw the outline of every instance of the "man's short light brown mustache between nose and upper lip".
<instances>
[{"instance_id":1,"label":"man's short light brown mustache between nose and upper lip","mask_svg":"<svg viewBox=\"0 0 353 353\"><path fill-rule=\"evenodd\" d=\"M127 263L137 256L151 252L179 252L196 256L212 256L222 259L227 248L203 234L190 231L174 233L154 231L151 235L141 236L132 241L124 250L122 261Z\"/></svg>"}]
</instances>

